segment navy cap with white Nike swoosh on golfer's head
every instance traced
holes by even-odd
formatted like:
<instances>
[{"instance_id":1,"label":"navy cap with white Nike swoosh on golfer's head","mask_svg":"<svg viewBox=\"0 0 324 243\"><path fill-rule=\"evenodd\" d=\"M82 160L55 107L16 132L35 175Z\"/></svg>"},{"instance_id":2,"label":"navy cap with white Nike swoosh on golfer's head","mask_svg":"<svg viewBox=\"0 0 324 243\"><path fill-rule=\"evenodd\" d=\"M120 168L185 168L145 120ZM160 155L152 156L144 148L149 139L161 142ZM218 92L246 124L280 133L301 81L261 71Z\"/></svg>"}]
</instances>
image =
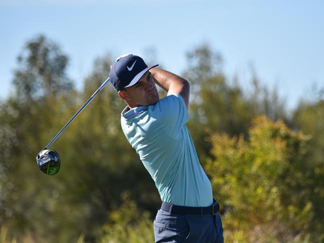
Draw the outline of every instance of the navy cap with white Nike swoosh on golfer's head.
<instances>
[{"instance_id":1,"label":"navy cap with white Nike swoosh on golfer's head","mask_svg":"<svg viewBox=\"0 0 324 243\"><path fill-rule=\"evenodd\" d=\"M135 85L147 71L158 65L148 67L139 56L133 54L123 55L117 58L115 65L112 66L109 78L115 90L120 91Z\"/></svg>"}]
</instances>

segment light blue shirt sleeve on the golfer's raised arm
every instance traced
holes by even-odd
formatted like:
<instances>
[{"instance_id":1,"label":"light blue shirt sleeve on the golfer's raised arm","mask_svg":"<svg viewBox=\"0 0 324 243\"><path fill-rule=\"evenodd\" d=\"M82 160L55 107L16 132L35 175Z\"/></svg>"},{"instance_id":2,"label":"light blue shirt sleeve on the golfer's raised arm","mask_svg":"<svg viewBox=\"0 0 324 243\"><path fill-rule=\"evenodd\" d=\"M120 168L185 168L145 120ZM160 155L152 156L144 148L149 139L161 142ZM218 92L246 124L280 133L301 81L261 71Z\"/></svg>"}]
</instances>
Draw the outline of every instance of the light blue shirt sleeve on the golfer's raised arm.
<instances>
[{"instance_id":1,"label":"light blue shirt sleeve on the golfer's raised arm","mask_svg":"<svg viewBox=\"0 0 324 243\"><path fill-rule=\"evenodd\" d=\"M163 128L171 137L177 137L189 115L184 100L179 94L170 94L158 103L158 112Z\"/></svg>"}]
</instances>

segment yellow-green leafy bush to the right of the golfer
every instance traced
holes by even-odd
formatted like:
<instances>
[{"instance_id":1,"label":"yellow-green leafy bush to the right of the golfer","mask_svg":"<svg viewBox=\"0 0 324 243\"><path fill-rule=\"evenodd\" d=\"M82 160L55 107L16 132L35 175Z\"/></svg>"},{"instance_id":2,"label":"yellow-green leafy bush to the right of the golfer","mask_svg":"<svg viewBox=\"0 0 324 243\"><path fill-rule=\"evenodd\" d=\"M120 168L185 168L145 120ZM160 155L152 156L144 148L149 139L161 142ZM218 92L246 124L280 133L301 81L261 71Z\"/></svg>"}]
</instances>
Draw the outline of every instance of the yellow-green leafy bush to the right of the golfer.
<instances>
[{"instance_id":1,"label":"yellow-green leafy bush to the right of the golfer","mask_svg":"<svg viewBox=\"0 0 324 243\"><path fill-rule=\"evenodd\" d=\"M323 240L323 221L314 222L312 173L304 163L307 140L264 116L253 121L249 141L218 133L211 137L214 158L205 170L222 207L227 241Z\"/></svg>"}]
</instances>

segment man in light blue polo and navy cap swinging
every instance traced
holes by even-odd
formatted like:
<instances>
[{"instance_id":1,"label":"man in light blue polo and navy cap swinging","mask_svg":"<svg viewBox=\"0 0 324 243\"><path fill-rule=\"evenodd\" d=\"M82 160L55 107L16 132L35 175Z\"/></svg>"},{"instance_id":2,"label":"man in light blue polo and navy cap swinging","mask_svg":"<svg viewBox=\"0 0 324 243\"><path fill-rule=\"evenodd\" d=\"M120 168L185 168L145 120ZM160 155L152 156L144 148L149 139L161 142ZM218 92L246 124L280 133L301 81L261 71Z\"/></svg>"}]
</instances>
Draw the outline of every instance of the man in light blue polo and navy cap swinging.
<instances>
[{"instance_id":1,"label":"man in light blue polo and navy cap swinging","mask_svg":"<svg viewBox=\"0 0 324 243\"><path fill-rule=\"evenodd\" d=\"M126 138L159 190L162 206L154 221L156 243L224 242L219 205L202 169L189 130L189 83L123 55L111 67L111 82L127 107L121 116ZM156 84L167 91L159 99Z\"/></svg>"}]
</instances>

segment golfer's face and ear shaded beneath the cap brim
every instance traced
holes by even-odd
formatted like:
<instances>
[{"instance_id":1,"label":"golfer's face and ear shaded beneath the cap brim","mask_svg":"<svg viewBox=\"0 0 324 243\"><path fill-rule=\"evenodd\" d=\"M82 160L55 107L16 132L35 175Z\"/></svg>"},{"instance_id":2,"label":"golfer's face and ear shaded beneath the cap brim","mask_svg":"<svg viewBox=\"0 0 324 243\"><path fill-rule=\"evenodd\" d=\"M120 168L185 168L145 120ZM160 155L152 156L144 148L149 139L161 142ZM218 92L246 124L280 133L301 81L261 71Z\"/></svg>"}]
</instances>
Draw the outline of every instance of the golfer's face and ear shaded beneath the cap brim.
<instances>
[{"instance_id":1,"label":"golfer's face and ear shaded beneath the cap brim","mask_svg":"<svg viewBox=\"0 0 324 243\"><path fill-rule=\"evenodd\" d=\"M135 85L125 88L128 100L131 100L137 106L154 105L159 101L159 93L151 73L146 72ZM127 103L129 101L125 99Z\"/></svg>"}]
</instances>

